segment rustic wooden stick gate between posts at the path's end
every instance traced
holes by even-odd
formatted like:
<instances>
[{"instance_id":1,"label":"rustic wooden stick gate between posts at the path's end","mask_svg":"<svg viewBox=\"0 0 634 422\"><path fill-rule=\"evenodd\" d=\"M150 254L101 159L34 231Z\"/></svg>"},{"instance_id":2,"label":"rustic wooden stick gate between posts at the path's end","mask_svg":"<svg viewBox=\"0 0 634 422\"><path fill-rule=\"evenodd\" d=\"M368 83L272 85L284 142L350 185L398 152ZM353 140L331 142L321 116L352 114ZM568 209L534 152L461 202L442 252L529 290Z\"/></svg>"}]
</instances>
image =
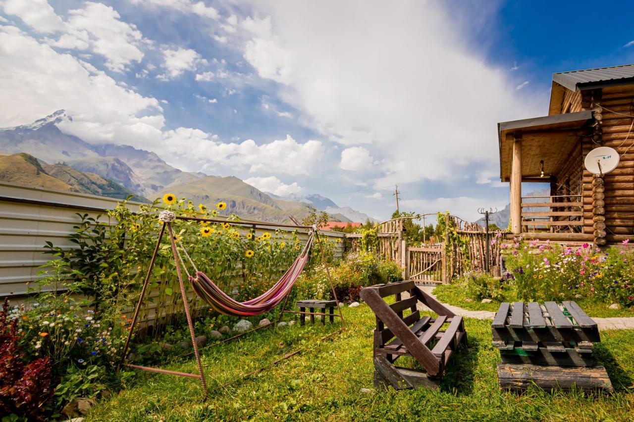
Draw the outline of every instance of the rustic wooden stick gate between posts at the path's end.
<instances>
[{"instance_id":1,"label":"rustic wooden stick gate between posts at the path's end","mask_svg":"<svg viewBox=\"0 0 634 422\"><path fill-rule=\"evenodd\" d=\"M446 259L444 244L407 248L408 276L410 280L422 283L446 283Z\"/></svg>"}]
</instances>

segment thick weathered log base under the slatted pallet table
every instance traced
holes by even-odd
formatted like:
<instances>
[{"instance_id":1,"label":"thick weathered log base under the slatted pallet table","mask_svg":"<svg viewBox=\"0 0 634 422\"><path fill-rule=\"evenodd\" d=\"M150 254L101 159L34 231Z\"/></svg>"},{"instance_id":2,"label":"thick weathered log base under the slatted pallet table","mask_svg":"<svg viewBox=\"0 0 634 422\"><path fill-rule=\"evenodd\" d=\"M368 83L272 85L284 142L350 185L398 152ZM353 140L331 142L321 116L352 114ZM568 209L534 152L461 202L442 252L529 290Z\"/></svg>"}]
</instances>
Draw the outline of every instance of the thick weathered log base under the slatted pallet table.
<instances>
[{"instance_id":1,"label":"thick weathered log base under the slatted pallet table","mask_svg":"<svg viewBox=\"0 0 634 422\"><path fill-rule=\"evenodd\" d=\"M561 388L593 393L602 390L613 393L612 383L603 366L566 368L562 366L538 366L530 364L498 364L498 382L501 388L524 392L529 386L546 390Z\"/></svg>"}]
</instances>

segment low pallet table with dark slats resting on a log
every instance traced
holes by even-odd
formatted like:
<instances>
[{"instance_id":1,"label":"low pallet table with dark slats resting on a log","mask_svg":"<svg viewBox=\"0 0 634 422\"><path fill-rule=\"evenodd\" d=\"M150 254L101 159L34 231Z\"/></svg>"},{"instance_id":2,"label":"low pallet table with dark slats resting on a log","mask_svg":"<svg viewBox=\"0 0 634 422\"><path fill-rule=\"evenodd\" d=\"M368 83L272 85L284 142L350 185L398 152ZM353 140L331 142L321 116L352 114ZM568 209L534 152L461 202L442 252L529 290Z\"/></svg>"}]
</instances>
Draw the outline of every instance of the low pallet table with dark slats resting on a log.
<instances>
[{"instance_id":1,"label":"low pallet table with dark slats resting on a log","mask_svg":"<svg viewBox=\"0 0 634 422\"><path fill-rule=\"evenodd\" d=\"M502 359L500 387L525 390L534 382L542 388L612 391L605 368L592 359L594 343L601 341L597 323L576 302L504 302L491 331Z\"/></svg>"}]
</instances>

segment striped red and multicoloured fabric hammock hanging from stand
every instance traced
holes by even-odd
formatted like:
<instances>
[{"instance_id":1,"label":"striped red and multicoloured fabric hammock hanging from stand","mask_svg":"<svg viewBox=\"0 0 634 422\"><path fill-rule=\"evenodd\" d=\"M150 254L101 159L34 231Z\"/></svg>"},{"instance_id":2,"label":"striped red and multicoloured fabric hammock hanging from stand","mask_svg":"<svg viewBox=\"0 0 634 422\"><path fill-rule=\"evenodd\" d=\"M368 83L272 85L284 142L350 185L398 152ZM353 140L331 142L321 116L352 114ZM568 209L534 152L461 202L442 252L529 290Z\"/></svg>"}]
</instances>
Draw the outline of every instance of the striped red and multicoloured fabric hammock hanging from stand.
<instances>
[{"instance_id":1,"label":"striped red and multicoloured fabric hammock hanging from stand","mask_svg":"<svg viewBox=\"0 0 634 422\"><path fill-rule=\"evenodd\" d=\"M190 283L195 293L209 304L212 309L224 315L231 316L254 316L269 312L280 304L287 297L293 288L295 281L301 274L302 269L308 262L308 252L313 243L314 233L308 238L306 246L299 254L297 259L290 265L290 268L269 290L262 295L247 300L246 302L238 302L222 291L216 283L202 271L197 271L195 277L190 276Z\"/></svg>"}]
</instances>

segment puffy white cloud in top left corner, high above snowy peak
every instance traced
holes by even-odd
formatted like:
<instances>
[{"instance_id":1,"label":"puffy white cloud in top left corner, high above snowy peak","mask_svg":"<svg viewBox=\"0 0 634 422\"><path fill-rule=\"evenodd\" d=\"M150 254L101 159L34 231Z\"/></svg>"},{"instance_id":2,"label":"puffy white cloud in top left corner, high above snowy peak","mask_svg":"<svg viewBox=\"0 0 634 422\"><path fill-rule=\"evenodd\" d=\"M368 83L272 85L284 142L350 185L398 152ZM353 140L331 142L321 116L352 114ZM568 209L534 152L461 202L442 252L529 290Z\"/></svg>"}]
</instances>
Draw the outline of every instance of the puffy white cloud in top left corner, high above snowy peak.
<instances>
[{"instance_id":1,"label":"puffy white cloud in top left corner, high above snowy peak","mask_svg":"<svg viewBox=\"0 0 634 422\"><path fill-rule=\"evenodd\" d=\"M46 0L8 0L3 6L6 13L20 16L37 32L60 34L57 39L47 39L51 46L100 54L114 72L122 72L133 61L143 59L140 47L147 41L141 32L120 20L119 13L105 4L86 2L84 8L68 11L67 22Z\"/></svg>"}]
</instances>

